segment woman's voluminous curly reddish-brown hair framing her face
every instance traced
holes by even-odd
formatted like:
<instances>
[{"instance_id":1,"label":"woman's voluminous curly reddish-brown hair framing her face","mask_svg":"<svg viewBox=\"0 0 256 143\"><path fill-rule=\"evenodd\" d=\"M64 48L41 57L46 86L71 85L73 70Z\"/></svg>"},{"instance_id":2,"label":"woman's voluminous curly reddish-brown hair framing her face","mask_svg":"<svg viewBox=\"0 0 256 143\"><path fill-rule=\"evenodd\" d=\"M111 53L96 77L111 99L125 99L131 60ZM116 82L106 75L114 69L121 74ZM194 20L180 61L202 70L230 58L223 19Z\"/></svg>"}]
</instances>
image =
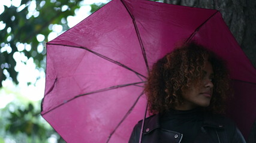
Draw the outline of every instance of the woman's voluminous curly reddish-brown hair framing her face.
<instances>
[{"instance_id":1,"label":"woman's voluminous curly reddish-brown hair framing her face","mask_svg":"<svg viewBox=\"0 0 256 143\"><path fill-rule=\"evenodd\" d=\"M224 113L230 91L228 70L221 58L195 42L183 44L153 64L144 89L150 113L162 113L182 104L182 94L189 86L200 84L206 61L212 64L214 86L210 105L204 109Z\"/></svg>"}]
</instances>

